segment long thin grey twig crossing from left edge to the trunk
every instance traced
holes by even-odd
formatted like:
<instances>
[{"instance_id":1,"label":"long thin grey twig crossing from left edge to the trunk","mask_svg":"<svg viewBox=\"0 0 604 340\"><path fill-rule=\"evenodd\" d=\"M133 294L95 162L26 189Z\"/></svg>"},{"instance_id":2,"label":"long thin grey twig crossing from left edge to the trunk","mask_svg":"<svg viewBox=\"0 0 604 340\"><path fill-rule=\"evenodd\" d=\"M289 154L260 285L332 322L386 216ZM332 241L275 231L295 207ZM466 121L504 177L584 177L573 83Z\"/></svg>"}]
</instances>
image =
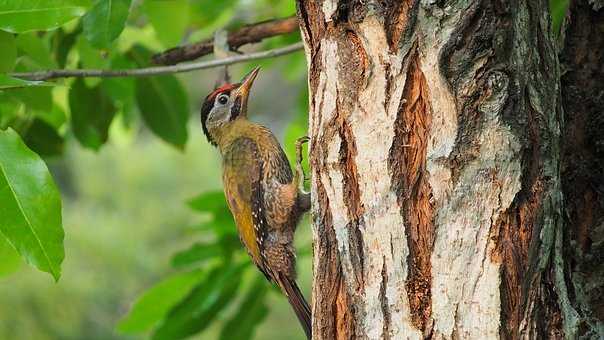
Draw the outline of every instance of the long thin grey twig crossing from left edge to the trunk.
<instances>
[{"instance_id":1,"label":"long thin grey twig crossing from left edge to the trunk","mask_svg":"<svg viewBox=\"0 0 604 340\"><path fill-rule=\"evenodd\" d=\"M156 76L161 74L173 74L190 72L195 70L203 70L208 68L215 68L225 65L233 65L237 63L243 63L250 60L266 59L278 57L286 54L290 54L299 51L303 48L301 42L291 44L281 48L275 48L272 50L266 50L261 52L254 52L242 55L236 55L224 59L214 59L208 61L200 61L196 63L180 64L172 66L154 66L139 69L128 69L128 70L46 70L46 71L34 71L34 72L15 72L12 73L12 77L26 79L26 80L49 80L56 78L116 78L116 77L147 77Z\"/></svg>"}]
</instances>

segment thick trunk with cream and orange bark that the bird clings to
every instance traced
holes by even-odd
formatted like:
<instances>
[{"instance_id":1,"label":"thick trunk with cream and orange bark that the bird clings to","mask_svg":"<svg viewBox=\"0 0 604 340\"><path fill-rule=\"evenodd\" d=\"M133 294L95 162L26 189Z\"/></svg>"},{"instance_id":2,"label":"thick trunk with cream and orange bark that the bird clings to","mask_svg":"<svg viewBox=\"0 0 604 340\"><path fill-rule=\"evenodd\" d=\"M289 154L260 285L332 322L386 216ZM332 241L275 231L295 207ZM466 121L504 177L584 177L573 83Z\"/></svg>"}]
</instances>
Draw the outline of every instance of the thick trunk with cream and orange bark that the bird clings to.
<instances>
[{"instance_id":1,"label":"thick trunk with cream and orange bark that the bird clings to","mask_svg":"<svg viewBox=\"0 0 604 340\"><path fill-rule=\"evenodd\" d=\"M315 339L585 334L548 2L298 0L298 19Z\"/></svg>"}]
</instances>

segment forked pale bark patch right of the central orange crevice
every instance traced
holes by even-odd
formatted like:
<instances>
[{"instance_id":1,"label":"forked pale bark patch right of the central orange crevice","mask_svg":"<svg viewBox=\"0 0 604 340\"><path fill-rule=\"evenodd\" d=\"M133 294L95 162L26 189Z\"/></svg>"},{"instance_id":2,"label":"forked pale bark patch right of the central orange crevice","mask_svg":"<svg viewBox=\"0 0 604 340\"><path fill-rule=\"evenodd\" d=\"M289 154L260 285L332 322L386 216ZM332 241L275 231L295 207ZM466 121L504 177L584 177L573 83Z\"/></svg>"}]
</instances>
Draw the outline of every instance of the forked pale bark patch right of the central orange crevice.
<instances>
[{"instance_id":1,"label":"forked pale bark patch right of the central orange crevice","mask_svg":"<svg viewBox=\"0 0 604 340\"><path fill-rule=\"evenodd\" d=\"M454 20L451 18L450 20ZM448 26L448 27L453 27ZM505 89L480 110L486 118L476 158L463 164L454 181L448 159L456 144L455 96L440 73L438 56L452 30L424 31L421 69L430 92L433 128L427 171L434 194L435 243L432 254L432 318L437 338L499 336L499 264L492 262L491 229L520 191L520 142L503 123Z\"/></svg>"}]
</instances>

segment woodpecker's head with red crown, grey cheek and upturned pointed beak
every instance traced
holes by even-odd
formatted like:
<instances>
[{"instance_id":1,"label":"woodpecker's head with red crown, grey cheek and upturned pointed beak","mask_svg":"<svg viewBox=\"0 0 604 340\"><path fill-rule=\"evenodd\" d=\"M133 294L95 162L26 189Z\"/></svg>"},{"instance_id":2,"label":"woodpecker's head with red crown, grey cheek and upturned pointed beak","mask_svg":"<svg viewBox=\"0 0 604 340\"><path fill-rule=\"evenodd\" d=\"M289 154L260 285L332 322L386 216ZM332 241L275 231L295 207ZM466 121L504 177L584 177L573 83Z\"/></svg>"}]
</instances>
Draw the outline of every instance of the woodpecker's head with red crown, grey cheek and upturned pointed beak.
<instances>
[{"instance_id":1,"label":"woodpecker's head with red crown, grey cheek and upturned pointed beak","mask_svg":"<svg viewBox=\"0 0 604 340\"><path fill-rule=\"evenodd\" d=\"M233 121L246 118L247 98L259 70L254 68L240 83L222 85L206 97L201 106L201 126L210 143L216 145Z\"/></svg>"}]
</instances>

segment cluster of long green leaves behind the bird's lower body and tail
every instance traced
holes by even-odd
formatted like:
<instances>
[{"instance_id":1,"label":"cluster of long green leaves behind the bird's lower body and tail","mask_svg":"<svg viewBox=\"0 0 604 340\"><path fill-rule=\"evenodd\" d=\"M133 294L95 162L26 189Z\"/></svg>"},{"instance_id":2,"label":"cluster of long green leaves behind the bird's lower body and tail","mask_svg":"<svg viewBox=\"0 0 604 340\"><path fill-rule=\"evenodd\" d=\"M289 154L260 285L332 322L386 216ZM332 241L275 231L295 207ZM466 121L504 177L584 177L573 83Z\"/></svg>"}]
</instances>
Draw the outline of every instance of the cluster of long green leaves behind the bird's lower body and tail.
<instances>
[{"instance_id":1,"label":"cluster of long green leaves behind the bird's lower body and tail","mask_svg":"<svg viewBox=\"0 0 604 340\"><path fill-rule=\"evenodd\" d=\"M268 314L270 285L242 250L222 192L201 194L188 205L203 218L192 230L205 240L174 254L171 263L178 272L147 290L118 330L181 339L222 319L221 339L249 339ZM244 280L246 273L251 280Z\"/></svg>"}]
</instances>

